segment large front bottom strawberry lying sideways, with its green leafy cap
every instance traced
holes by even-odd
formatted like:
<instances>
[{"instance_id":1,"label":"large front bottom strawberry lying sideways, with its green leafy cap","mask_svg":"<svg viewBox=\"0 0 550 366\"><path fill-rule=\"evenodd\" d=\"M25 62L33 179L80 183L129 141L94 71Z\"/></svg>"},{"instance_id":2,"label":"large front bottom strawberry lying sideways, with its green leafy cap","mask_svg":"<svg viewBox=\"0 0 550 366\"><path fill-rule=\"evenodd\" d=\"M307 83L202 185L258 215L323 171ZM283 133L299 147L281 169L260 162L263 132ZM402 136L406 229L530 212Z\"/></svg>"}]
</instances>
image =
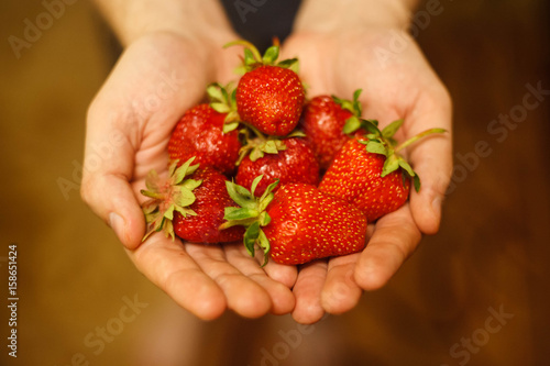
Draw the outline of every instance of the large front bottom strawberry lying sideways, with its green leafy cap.
<instances>
[{"instance_id":1,"label":"large front bottom strawberry lying sideways, with its green leafy cap","mask_svg":"<svg viewBox=\"0 0 550 366\"><path fill-rule=\"evenodd\" d=\"M228 222L221 229L246 226L244 245L251 256L255 246L285 265L360 252L365 246L366 220L363 213L342 199L326 195L307 184L270 185L254 196L262 176L249 191L228 181L228 192L241 208L226 209Z\"/></svg>"}]
</instances>

